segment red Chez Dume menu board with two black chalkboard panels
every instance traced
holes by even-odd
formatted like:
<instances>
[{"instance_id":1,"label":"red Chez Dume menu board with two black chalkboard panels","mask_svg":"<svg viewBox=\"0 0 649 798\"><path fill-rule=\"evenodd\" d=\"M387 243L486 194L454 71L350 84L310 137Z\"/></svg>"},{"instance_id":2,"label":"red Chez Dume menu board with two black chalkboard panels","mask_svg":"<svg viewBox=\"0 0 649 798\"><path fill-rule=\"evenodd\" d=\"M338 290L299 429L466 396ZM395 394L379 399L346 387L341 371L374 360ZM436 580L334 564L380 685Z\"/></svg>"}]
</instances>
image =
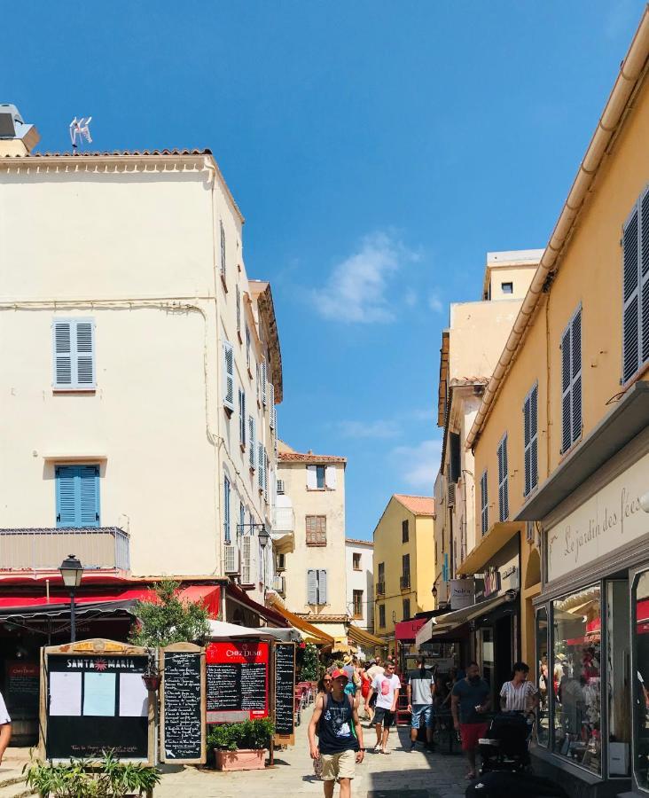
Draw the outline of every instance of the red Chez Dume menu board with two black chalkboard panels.
<instances>
[{"instance_id":1,"label":"red Chez Dume menu board with two black chalkboard panels","mask_svg":"<svg viewBox=\"0 0 649 798\"><path fill-rule=\"evenodd\" d=\"M207 646L208 724L268 716L269 649L258 640Z\"/></svg>"}]
</instances>

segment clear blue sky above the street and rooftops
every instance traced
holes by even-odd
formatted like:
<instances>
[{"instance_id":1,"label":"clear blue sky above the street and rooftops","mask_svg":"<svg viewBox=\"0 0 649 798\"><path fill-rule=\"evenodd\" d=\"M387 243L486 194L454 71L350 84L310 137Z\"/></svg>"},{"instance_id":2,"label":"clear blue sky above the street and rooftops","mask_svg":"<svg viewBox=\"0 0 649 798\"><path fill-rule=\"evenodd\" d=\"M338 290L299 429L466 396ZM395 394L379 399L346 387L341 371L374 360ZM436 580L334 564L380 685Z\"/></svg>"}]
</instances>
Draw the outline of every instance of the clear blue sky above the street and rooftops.
<instances>
[{"instance_id":1,"label":"clear blue sky above the street and rooftops","mask_svg":"<svg viewBox=\"0 0 649 798\"><path fill-rule=\"evenodd\" d=\"M348 457L348 536L430 494L450 301L544 246L640 19L617 2L3 8L2 102L68 149L209 147L270 279L280 434ZM33 14L33 16L30 16Z\"/></svg>"}]
</instances>

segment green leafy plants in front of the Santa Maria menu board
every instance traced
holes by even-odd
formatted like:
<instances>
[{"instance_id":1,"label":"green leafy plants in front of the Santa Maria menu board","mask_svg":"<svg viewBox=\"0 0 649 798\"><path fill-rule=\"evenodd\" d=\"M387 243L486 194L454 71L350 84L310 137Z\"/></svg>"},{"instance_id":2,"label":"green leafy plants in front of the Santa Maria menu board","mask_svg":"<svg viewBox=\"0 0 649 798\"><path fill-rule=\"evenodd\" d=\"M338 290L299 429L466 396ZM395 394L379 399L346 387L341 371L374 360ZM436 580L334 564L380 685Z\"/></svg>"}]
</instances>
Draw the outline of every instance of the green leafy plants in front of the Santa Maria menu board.
<instances>
[{"instance_id":1,"label":"green leafy plants in front of the Santa Maria menu board","mask_svg":"<svg viewBox=\"0 0 649 798\"><path fill-rule=\"evenodd\" d=\"M152 796L160 782L154 767L120 762L112 751L100 762L71 759L69 763L47 763L33 759L23 768L27 786L40 798L135 798Z\"/></svg>"}]
</instances>

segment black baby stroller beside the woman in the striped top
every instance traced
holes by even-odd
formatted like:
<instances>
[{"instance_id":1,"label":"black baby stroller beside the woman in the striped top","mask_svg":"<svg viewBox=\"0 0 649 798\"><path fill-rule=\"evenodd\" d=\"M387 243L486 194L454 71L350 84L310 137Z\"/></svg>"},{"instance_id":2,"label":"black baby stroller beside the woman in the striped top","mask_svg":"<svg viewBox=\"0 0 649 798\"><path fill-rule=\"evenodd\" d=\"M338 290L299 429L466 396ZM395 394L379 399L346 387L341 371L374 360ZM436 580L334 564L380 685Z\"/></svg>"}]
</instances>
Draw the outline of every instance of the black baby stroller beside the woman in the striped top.
<instances>
[{"instance_id":1,"label":"black baby stroller beside the woman in the striped top","mask_svg":"<svg viewBox=\"0 0 649 798\"><path fill-rule=\"evenodd\" d=\"M521 712L502 712L489 724L487 737L479 740L482 773L525 771L529 767L532 724Z\"/></svg>"}]
</instances>

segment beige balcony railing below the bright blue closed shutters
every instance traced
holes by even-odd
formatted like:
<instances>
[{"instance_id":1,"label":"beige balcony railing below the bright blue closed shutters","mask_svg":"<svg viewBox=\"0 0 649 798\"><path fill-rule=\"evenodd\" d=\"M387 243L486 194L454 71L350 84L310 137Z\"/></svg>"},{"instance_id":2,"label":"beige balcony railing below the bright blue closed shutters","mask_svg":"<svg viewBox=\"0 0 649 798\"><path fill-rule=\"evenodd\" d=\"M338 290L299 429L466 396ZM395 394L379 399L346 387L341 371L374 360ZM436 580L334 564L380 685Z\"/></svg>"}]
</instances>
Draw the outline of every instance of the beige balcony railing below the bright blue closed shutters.
<instances>
[{"instance_id":1,"label":"beige balcony railing below the bright blue closed shutters","mask_svg":"<svg viewBox=\"0 0 649 798\"><path fill-rule=\"evenodd\" d=\"M129 534L117 527L0 529L0 571L53 571L69 554L84 569L129 571Z\"/></svg>"}]
</instances>

